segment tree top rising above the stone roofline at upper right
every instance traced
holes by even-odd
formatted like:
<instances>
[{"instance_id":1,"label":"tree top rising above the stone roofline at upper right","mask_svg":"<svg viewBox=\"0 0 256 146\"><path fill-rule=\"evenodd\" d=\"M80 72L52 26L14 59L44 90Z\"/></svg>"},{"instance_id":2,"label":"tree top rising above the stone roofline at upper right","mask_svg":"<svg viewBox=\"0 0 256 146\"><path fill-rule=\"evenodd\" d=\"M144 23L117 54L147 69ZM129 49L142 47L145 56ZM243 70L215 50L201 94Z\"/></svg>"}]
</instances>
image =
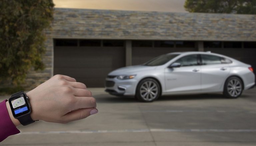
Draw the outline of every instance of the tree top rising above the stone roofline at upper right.
<instances>
[{"instance_id":1,"label":"tree top rising above the stone roofline at upper right","mask_svg":"<svg viewBox=\"0 0 256 146\"><path fill-rule=\"evenodd\" d=\"M188 12L256 14L256 0L186 0Z\"/></svg>"}]
</instances>

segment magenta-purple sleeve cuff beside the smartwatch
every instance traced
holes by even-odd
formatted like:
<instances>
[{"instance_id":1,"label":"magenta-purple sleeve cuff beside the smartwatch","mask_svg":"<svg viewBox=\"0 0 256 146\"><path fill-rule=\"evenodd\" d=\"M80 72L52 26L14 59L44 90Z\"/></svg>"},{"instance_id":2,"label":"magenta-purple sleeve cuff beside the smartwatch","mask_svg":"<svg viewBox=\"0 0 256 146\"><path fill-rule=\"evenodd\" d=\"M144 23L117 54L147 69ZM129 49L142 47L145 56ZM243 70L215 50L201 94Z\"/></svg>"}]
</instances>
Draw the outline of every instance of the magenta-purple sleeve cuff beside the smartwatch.
<instances>
[{"instance_id":1,"label":"magenta-purple sleeve cuff beside the smartwatch","mask_svg":"<svg viewBox=\"0 0 256 146\"><path fill-rule=\"evenodd\" d=\"M3 102L0 103L0 142L10 135L20 133L20 131L13 124L8 114L6 104L5 104L6 101L8 100L4 100Z\"/></svg>"}]
</instances>

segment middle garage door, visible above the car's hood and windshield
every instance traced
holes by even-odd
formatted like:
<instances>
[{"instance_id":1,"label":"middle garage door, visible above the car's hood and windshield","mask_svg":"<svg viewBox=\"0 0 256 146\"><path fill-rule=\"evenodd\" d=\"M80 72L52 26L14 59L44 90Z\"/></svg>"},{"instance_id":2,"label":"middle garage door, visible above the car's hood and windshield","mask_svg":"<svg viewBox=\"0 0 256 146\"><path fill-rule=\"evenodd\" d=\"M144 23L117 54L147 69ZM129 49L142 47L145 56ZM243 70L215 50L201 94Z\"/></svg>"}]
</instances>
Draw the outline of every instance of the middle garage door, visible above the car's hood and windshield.
<instances>
[{"instance_id":1,"label":"middle garage door, visible above the car's hood and windshield","mask_svg":"<svg viewBox=\"0 0 256 146\"><path fill-rule=\"evenodd\" d=\"M132 65L146 63L167 53L197 51L192 41L133 41L132 47Z\"/></svg>"}]
</instances>

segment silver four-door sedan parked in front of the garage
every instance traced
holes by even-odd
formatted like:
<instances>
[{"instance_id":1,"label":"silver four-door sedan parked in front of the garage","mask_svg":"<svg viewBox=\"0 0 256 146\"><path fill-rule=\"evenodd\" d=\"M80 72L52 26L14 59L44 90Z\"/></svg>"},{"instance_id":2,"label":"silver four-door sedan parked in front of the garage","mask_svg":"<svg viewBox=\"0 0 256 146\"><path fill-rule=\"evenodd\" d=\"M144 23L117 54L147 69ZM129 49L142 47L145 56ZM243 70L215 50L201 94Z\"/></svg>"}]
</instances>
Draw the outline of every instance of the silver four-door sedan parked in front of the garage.
<instances>
[{"instance_id":1,"label":"silver four-door sedan parked in front of the garage","mask_svg":"<svg viewBox=\"0 0 256 146\"><path fill-rule=\"evenodd\" d=\"M254 84L250 65L210 52L183 52L114 70L106 78L105 91L112 95L135 95L144 102L161 95L213 92L237 98Z\"/></svg>"}]
</instances>

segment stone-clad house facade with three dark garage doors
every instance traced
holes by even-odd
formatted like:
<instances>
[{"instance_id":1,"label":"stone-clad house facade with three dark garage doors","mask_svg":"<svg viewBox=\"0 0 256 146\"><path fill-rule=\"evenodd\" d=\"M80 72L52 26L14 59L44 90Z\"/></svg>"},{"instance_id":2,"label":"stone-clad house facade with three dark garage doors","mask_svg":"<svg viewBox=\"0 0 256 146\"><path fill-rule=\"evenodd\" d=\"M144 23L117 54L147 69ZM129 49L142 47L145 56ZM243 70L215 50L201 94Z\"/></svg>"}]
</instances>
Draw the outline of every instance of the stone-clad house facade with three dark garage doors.
<instances>
[{"instance_id":1,"label":"stone-clad house facade with three dark garage doors","mask_svg":"<svg viewBox=\"0 0 256 146\"><path fill-rule=\"evenodd\" d=\"M211 51L256 69L256 15L56 8L46 30L44 71L30 71L31 89L55 74L103 87L107 74L171 52Z\"/></svg>"}]
</instances>

